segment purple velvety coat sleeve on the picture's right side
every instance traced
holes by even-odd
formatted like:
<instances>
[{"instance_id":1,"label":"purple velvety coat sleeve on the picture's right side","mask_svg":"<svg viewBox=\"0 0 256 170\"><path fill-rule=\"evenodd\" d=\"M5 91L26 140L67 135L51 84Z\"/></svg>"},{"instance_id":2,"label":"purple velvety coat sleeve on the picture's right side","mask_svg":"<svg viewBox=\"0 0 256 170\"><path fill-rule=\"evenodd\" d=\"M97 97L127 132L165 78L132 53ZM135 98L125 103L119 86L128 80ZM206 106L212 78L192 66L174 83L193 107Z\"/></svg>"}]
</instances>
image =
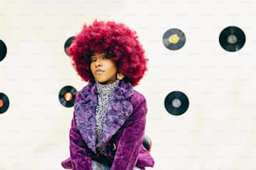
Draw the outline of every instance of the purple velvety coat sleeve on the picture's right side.
<instances>
[{"instance_id":1,"label":"purple velvety coat sleeve on the picture's right side","mask_svg":"<svg viewBox=\"0 0 256 170\"><path fill-rule=\"evenodd\" d=\"M136 167L146 126L146 99L140 93L132 97L134 110L124 124L111 170L132 170Z\"/></svg>"}]
</instances>

